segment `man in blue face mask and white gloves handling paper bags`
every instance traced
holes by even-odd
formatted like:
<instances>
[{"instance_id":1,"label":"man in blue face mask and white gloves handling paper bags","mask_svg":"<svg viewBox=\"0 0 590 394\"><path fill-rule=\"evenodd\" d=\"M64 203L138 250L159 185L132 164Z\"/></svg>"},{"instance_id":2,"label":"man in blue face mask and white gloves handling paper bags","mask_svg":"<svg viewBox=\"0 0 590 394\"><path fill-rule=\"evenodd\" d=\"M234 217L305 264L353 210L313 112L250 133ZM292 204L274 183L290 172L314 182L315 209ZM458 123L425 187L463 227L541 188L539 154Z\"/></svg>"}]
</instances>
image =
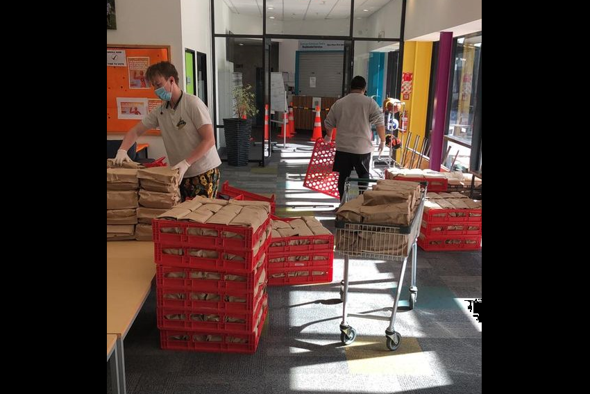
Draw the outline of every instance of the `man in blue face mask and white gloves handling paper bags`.
<instances>
[{"instance_id":1,"label":"man in blue face mask and white gloves handling paper bags","mask_svg":"<svg viewBox=\"0 0 590 394\"><path fill-rule=\"evenodd\" d=\"M154 88L162 105L137 122L121 142L115 163L131 161L127 149L149 129L160 127L162 140L173 168L180 170L180 195L217 196L221 159L215 147L209 110L199 97L185 95L178 86L178 71L170 62L149 66L146 79Z\"/></svg>"}]
</instances>

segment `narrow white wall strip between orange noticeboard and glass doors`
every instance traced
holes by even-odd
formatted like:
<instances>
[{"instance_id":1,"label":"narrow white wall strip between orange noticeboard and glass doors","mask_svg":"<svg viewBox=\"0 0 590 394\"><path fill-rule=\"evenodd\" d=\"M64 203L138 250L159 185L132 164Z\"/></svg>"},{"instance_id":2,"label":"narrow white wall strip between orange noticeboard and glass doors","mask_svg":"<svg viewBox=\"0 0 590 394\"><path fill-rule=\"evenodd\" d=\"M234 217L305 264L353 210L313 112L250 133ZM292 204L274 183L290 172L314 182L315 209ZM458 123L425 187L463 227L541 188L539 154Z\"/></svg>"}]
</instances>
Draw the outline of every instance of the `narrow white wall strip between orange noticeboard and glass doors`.
<instances>
[{"instance_id":1,"label":"narrow white wall strip between orange noticeboard and glass doors","mask_svg":"<svg viewBox=\"0 0 590 394\"><path fill-rule=\"evenodd\" d=\"M185 49L192 49L195 52L201 52L207 55L207 95L212 100L212 69L211 69L211 13L208 1L180 0L182 18L182 35L183 35L183 54ZM195 69L196 54L195 54ZM185 56L183 55L183 69L186 69ZM196 76L199 75L199 69L196 69ZM183 88L186 90L186 78L183 79ZM202 99L203 97L201 97ZM213 119L212 105L209 105L209 113Z\"/></svg>"}]
</instances>

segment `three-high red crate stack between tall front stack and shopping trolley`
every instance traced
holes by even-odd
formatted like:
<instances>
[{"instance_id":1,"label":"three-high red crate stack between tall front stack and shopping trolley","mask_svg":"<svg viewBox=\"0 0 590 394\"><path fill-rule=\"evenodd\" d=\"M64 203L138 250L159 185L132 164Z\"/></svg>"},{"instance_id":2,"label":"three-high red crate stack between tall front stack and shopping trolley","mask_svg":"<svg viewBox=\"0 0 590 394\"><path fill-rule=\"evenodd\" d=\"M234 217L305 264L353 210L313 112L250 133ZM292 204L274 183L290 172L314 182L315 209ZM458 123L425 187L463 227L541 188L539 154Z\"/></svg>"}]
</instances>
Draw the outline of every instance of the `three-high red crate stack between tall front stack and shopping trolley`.
<instances>
[{"instance_id":1,"label":"three-high red crate stack between tall front stack and shopping trolley","mask_svg":"<svg viewBox=\"0 0 590 394\"><path fill-rule=\"evenodd\" d=\"M283 222L298 219L274 215L271 218ZM281 246L272 246L276 243ZM269 246L269 286L331 282L333 265L334 235L272 238Z\"/></svg>"}]
</instances>

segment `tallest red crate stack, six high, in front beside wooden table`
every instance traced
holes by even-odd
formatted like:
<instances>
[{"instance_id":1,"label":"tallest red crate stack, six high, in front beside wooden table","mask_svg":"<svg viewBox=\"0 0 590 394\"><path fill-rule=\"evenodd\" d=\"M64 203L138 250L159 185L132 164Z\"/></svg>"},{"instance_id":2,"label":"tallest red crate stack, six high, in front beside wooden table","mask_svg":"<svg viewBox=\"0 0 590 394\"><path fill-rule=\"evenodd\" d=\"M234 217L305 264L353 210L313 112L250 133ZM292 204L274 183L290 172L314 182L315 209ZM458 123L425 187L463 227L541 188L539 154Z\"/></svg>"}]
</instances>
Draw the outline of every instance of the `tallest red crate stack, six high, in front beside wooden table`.
<instances>
[{"instance_id":1,"label":"tallest red crate stack, six high, in front beside wooden table","mask_svg":"<svg viewBox=\"0 0 590 394\"><path fill-rule=\"evenodd\" d=\"M268 311L269 223L270 218L253 231L153 220L162 349L256 351ZM216 236L193 235L203 231ZM233 238L226 238L227 232ZM254 251L256 245L260 247Z\"/></svg>"}]
</instances>

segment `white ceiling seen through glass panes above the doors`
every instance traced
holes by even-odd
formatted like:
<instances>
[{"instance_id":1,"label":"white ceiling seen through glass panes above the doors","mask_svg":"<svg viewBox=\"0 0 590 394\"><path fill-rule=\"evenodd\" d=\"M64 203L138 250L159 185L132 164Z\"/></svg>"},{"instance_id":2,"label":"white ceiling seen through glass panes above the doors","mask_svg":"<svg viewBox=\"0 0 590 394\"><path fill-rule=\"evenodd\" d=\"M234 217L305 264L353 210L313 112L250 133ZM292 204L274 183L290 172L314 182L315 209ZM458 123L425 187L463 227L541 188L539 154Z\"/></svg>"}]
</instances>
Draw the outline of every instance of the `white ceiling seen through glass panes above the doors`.
<instances>
[{"instance_id":1,"label":"white ceiling seen through glass panes above the doors","mask_svg":"<svg viewBox=\"0 0 590 394\"><path fill-rule=\"evenodd\" d=\"M355 17L369 17L393 0L355 1ZM232 13L262 17L262 0L224 0ZM267 17L276 20L347 19L351 0L267 0ZM364 11L366 10L366 11Z\"/></svg>"}]
</instances>

